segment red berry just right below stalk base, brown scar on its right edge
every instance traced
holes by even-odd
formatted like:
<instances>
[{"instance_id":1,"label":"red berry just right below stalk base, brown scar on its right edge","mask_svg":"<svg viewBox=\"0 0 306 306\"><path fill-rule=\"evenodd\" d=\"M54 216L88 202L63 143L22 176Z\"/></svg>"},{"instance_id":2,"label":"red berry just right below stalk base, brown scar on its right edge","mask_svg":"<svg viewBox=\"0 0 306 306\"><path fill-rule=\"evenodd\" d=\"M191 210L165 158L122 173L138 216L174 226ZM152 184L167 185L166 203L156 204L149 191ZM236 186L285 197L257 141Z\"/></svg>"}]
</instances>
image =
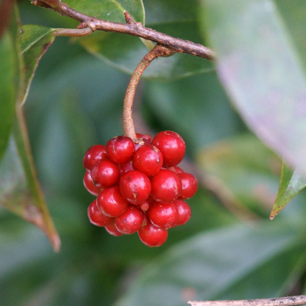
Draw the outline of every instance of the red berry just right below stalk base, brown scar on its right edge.
<instances>
[{"instance_id":1,"label":"red berry just right below stalk base, brown scar on its right edge","mask_svg":"<svg viewBox=\"0 0 306 306\"><path fill-rule=\"evenodd\" d=\"M132 159L134 169L147 174L147 176L155 175L161 169L162 162L162 153L151 144L140 146Z\"/></svg>"}]
</instances>

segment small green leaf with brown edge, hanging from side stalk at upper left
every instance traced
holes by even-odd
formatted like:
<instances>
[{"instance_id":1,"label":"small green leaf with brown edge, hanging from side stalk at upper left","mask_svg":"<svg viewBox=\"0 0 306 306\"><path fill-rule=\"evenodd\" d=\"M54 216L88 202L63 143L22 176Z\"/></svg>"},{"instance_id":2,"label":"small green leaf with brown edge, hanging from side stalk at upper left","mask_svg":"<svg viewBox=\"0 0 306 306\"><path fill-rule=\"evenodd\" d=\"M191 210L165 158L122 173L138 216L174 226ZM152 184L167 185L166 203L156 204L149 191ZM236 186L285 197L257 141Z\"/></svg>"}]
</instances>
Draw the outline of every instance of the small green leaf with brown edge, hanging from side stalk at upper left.
<instances>
[{"instance_id":1,"label":"small green leaf with brown edge, hanging from side stalk at upper left","mask_svg":"<svg viewBox=\"0 0 306 306\"><path fill-rule=\"evenodd\" d=\"M22 58L24 80L20 93L20 103L23 104L28 96L35 70L43 54L53 43L54 29L40 25L26 24L20 29L18 44Z\"/></svg>"}]
</instances>

